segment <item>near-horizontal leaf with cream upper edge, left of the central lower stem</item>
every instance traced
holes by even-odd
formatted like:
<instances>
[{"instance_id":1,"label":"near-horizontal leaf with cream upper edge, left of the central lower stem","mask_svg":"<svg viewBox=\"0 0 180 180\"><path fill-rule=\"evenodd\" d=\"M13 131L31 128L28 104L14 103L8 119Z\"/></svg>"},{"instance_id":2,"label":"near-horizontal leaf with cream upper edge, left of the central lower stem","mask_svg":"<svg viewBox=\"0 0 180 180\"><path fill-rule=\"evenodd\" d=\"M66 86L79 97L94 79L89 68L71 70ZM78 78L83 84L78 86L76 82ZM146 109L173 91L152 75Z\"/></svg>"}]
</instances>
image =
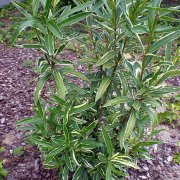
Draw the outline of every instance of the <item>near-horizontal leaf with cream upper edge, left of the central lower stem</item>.
<instances>
[{"instance_id":1,"label":"near-horizontal leaf with cream upper edge, left of the central lower stem","mask_svg":"<svg viewBox=\"0 0 180 180\"><path fill-rule=\"evenodd\" d=\"M95 105L95 103L90 103L88 104L88 101L86 101L83 104L80 104L78 106L74 106L71 111L70 114L77 114L77 113L81 113L83 111L86 111L87 109L92 108Z\"/></svg>"}]
</instances>

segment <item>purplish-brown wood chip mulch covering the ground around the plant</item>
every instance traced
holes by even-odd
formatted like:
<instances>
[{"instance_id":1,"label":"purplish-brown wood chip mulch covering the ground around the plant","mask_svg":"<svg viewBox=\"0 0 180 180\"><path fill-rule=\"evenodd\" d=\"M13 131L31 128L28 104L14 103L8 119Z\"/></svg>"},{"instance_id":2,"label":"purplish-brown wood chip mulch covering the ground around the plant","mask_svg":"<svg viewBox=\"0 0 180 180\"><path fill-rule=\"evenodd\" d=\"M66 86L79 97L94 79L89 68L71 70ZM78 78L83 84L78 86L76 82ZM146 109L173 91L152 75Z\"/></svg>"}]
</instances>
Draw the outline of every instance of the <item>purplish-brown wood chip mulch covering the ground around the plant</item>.
<instances>
[{"instance_id":1,"label":"purplish-brown wood chip mulch covering the ground around the plant","mask_svg":"<svg viewBox=\"0 0 180 180\"><path fill-rule=\"evenodd\" d=\"M58 179L58 172L44 169L38 149L27 145L23 132L16 128L16 121L33 114L32 99L36 82L32 80L36 74L32 69L23 67L23 61L35 61L40 56L35 50L0 45L0 147L5 147L0 159L3 159L4 167L8 170L7 180ZM68 57L76 59L73 53ZM179 80L171 79L169 83L179 86ZM24 147L23 155L13 155L17 147ZM129 180L179 179L180 166L172 160L178 151L177 146L163 143L156 149L156 152L150 149L151 160L139 162L140 170L129 170Z\"/></svg>"}]
</instances>

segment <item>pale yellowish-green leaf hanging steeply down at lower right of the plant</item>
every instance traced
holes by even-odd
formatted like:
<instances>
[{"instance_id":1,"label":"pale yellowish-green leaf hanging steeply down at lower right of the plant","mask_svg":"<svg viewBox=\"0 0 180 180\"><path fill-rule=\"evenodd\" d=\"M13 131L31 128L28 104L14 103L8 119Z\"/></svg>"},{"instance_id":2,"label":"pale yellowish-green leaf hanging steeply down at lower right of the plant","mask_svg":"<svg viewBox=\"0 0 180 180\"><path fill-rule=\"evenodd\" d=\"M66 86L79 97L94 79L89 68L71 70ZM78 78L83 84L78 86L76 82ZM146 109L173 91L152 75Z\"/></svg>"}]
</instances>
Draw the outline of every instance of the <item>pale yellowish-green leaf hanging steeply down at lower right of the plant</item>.
<instances>
[{"instance_id":1,"label":"pale yellowish-green leaf hanging steeply down at lower right of the plant","mask_svg":"<svg viewBox=\"0 0 180 180\"><path fill-rule=\"evenodd\" d=\"M124 132L124 140L128 139L128 137L132 134L135 124L136 124L136 114L133 111L126 125L126 129Z\"/></svg>"}]
</instances>

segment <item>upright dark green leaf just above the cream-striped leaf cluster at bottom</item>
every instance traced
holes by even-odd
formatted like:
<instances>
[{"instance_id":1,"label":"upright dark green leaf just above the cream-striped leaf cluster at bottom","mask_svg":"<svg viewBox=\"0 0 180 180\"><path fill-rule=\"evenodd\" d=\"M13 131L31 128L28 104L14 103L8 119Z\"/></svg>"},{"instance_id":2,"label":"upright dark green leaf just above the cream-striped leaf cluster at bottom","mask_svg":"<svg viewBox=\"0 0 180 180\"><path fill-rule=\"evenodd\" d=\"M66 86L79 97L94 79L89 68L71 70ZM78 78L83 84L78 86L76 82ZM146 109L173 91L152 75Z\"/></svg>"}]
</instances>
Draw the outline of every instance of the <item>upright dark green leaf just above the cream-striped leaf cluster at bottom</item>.
<instances>
[{"instance_id":1,"label":"upright dark green leaf just above the cream-striped leaf cluster at bottom","mask_svg":"<svg viewBox=\"0 0 180 180\"><path fill-rule=\"evenodd\" d=\"M102 128L102 135L103 135L103 139L106 143L106 148L109 153L109 156L111 157L113 155L113 145L111 142L111 138L105 128Z\"/></svg>"}]
</instances>

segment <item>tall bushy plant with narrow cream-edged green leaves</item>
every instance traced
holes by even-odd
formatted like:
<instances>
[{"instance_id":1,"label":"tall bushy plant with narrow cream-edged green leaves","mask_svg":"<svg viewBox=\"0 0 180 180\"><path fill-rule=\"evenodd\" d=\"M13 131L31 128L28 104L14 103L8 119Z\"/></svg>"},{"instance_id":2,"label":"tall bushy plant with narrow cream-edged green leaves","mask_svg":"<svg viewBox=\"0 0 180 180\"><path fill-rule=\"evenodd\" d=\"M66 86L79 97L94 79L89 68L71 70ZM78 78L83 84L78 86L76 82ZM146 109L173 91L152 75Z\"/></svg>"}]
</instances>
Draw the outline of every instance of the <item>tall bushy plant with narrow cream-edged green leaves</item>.
<instances>
[{"instance_id":1,"label":"tall bushy plant with narrow cream-edged green leaves","mask_svg":"<svg viewBox=\"0 0 180 180\"><path fill-rule=\"evenodd\" d=\"M180 74L179 51L171 57L180 31L158 24L179 10L161 8L160 0L74 2L76 7L61 9L58 0L13 3L26 19L12 43L31 28L38 43L22 47L44 52L37 62L35 115L17 124L30 130L26 136L41 150L44 165L59 169L60 179L120 179L128 167L138 168L137 158L149 158L146 146L158 143L151 138L158 133L160 98L179 90L163 82ZM64 28L78 22L87 31L83 37L63 35ZM69 42L82 43L84 36L90 44L78 64L58 59ZM165 55L159 55L162 46ZM87 72L77 71L78 65ZM69 74L81 79L81 87L68 80ZM49 81L54 85L45 99L41 91Z\"/></svg>"}]
</instances>

